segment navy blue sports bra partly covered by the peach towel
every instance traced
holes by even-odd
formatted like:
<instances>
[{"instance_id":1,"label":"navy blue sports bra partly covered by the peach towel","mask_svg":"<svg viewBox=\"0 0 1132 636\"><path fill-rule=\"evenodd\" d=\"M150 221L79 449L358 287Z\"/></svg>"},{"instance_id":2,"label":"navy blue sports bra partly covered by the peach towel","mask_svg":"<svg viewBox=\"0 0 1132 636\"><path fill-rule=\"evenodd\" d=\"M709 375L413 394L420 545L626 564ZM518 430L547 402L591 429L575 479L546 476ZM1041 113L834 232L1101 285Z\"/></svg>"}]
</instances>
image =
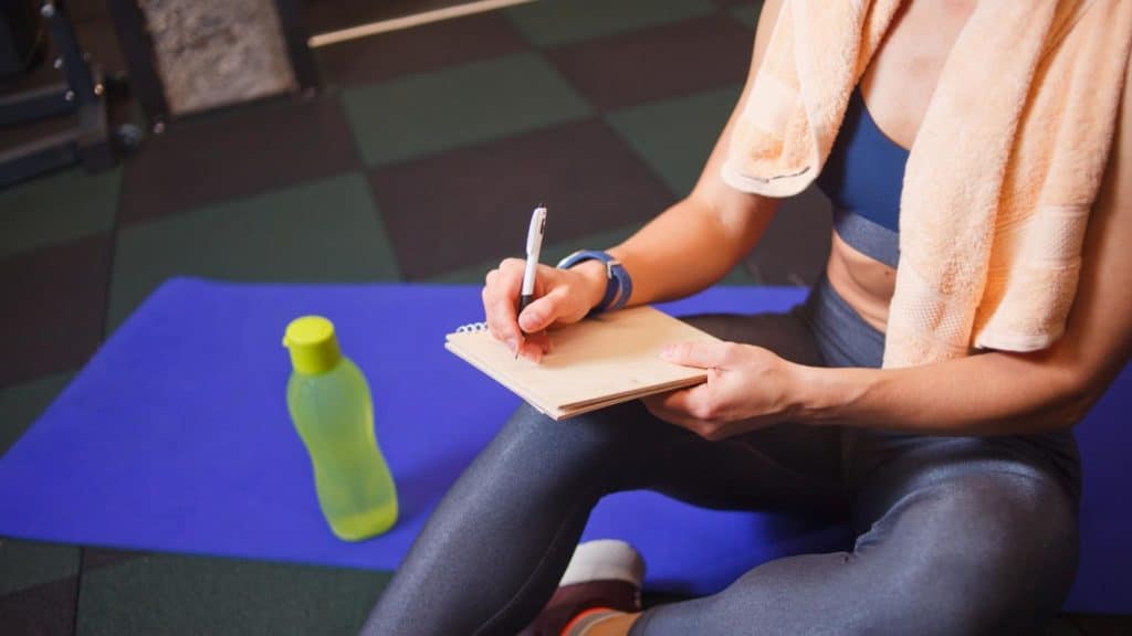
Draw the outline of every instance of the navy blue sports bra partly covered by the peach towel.
<instances>
[{"instance_id":1,"label":"navy blue sports bra partly covered by the peach towel","mask_svg":"<svg viewBox=\"0 0 1132 636\"><path fill-rule=\"evenodd\" d=\"M908 151L877 128L856 88L817 186L833 203L841 239L891 267L899 256L900 191L907 163Z\"/></svg>"}]
</instances>

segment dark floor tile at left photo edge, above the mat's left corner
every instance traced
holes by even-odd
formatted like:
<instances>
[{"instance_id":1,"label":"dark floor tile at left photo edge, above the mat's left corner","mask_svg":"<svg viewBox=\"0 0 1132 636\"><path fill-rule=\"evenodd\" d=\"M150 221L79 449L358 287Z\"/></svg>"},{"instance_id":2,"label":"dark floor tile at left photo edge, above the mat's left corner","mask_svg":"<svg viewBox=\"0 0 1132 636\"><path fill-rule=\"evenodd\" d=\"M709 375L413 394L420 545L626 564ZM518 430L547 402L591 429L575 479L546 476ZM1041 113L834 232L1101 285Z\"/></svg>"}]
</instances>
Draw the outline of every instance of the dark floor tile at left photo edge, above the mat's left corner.
<instances>
[{"instance_id":1,"label":"dark floor tile at left photo edge, above the mat's left corner","mask_svg":"<svg viewBox=\"0 0 1132 636\"><path fill-rule=\"evenodd\" d=\"M110 233L0 263L0 386L82 367L102 340Z\"/></svg>"}]
</instances>

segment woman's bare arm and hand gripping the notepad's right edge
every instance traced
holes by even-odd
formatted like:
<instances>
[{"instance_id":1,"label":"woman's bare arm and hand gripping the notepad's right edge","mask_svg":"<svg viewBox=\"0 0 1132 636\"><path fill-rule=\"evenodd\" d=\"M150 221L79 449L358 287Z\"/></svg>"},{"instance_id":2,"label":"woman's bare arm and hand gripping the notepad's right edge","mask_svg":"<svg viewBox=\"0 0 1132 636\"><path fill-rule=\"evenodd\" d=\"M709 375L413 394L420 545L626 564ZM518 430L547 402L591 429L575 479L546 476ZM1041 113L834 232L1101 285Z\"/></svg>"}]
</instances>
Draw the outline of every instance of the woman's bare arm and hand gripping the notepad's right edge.
<instances>
[{"instance_id":1,"label":"woman's bare arm and hand gripping the notepad's right edge","mask_svg":"<svg viewBox=\"0 0 1132 636\"><path fill-rule=\"evenodd\" d=\"M1072 426L1132 355L1132 65L1116 139L1086 234L1065 334L1034 353L988 352L908 369L803 367L747 345L676 345L709 381L648 399L709 439L782 420L942 435Z\"/></svg>"}]
</instances>

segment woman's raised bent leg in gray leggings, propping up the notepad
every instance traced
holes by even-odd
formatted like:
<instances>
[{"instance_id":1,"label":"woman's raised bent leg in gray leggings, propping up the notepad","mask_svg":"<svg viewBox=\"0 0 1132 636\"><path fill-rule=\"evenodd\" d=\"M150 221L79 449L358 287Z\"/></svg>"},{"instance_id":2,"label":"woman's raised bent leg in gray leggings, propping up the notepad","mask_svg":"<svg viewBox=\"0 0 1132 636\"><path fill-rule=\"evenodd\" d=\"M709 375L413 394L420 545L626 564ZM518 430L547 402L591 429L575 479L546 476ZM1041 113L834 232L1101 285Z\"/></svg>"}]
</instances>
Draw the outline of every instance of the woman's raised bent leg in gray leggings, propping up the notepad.
<instances>
[{"instance_id":1,"label":"woman's raised bent leg in gray leggings, propping up the notepad","mask_svg":"<svg viewBox=\"0 0 1132 636\"><path fill-rule=\"evenodd\" d=\"M821 363L789 315L696 323ZM444 497L363 634L517 633L554 593L591 508L618 490L847 515L840 459L833 429L781 426L710 442L638 402L561 422L524 406Z\"/></svg>"}]
</instances>

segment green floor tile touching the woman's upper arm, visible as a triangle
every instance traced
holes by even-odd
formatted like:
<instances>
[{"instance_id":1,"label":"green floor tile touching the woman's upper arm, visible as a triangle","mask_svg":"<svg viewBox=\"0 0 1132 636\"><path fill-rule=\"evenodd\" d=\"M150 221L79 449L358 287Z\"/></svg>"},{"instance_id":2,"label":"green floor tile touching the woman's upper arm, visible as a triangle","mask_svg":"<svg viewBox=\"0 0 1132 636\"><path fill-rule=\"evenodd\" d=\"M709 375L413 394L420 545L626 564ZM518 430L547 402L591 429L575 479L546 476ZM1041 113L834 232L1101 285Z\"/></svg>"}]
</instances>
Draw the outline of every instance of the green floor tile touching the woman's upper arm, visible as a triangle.
<instances>
[{"instance_id":1,"label":"green floor tile touching the woman's upper arm, visible as a triangle","mask_svg":"<svg viewBox=\"0 0 1132 636\"><path fill-rule=\"evenodd\" d=\"M692 191L735 109L741 86L653 102L608 113L606 119L671 188Z\"/></svg>"}]
</instances>

